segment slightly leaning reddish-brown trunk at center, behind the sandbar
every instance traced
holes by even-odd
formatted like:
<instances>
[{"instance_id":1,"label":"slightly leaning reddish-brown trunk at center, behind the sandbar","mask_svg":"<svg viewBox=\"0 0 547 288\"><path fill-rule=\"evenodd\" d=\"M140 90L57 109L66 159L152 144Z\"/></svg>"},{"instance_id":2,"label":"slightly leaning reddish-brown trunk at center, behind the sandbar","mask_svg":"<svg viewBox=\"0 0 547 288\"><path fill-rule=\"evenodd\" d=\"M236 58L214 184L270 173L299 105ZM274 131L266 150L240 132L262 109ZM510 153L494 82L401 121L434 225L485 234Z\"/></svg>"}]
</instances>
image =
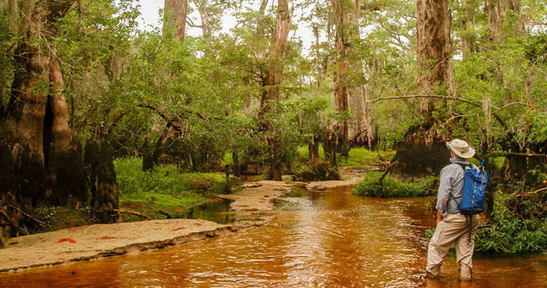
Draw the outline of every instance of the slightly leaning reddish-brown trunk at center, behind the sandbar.
<instances>
[{"instance_id":1,"label":"slightly leaning reddish-brown trunk at center, behind the sandbar","mask_svg":"<svg viewBox=\"0 0 547 288\"><path fill-rule=\"evenodd\" d=\"M272 131L271 122L267 120L269 113L276 113L277 101L280 95L281 77L283 75L283 55L287 47L287 38L290 30L289 0L278 0L275 32L272 36L269 49L269 66L266 70L263 83L263 93L260 99L259 117L260 130ZM270 146L270 168L268 178L281 180L283 170L283 147L280 139L267 137Z\"/></svg>"}]
</instances>

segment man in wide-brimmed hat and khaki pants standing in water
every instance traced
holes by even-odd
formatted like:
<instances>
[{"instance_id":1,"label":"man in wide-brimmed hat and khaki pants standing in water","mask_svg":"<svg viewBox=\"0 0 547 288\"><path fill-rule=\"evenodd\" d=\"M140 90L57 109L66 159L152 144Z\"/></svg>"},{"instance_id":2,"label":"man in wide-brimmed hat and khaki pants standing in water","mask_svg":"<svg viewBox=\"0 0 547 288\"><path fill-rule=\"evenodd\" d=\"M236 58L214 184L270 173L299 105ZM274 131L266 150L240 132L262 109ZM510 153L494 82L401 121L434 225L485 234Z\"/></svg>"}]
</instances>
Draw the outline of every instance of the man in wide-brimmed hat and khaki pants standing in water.
<instances>
[{"instance_id":1,"label":"man in wide-brimmed hat and khaki pants standing in water","mask_svg":"<svg viewBox=\"0 0 547 288\"><path fill-rule=\"evenodd\" d=\"M475 155L475 149L459 139L447 142L446 146L450 149L451 164L444 167L440 174L437 206L435 207L437 209L437 230L435 230L427 250L426 278L439 278L443 259L452 243L455 243L458 280L471 281L475 231L479 226L479 215L460 213L458 203L462 201L464 177L460 164L470 168L474 167L467 159ZM473 221L471 233L469 233L468 221Z\"/></svg>"}]
</instances>

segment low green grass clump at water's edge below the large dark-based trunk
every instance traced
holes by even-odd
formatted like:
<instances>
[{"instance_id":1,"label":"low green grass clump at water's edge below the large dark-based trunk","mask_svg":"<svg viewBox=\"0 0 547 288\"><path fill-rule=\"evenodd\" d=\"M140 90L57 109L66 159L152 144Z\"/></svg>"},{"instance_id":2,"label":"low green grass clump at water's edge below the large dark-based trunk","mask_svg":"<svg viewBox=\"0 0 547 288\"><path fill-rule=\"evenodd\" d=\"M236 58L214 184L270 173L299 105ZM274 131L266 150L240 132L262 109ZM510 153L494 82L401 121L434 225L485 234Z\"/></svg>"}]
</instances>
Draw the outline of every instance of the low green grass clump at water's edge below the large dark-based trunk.
<instances>
[{"instance_id":1,"label":"low green grass clump at water's edge below the large dark-based trunk","mask_svg":"<svg viewBox=\"0 0 547 288\"><path fill-rule=\"evenodd\" d=\"M379 179L382 174L381 172L366 174L364 179L353 189L353 193L371 197L417 197L432 196L437 193L432 189L437 181L435 177L422 179L417 183L405 183L391 177L391 175L386 175L380 184Z\"/></svg>"}]
</instances>

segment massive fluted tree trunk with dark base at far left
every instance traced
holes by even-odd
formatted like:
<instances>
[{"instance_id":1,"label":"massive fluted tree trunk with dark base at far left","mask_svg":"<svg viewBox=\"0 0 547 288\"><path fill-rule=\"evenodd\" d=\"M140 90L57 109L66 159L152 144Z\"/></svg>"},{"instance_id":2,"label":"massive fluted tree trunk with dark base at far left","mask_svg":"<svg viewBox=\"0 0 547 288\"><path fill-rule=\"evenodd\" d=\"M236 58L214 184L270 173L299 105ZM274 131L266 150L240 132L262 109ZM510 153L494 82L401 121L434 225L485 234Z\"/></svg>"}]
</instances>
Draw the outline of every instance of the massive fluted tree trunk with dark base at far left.
<instances>
[{"instance_id":1,"label":"massive fluted tree trunk with dark base at far left","mask_svg":"<svg viewBox=\"0 0 547 288\"><path fill-rule=\"evenodd\" d=\"M61 68L55 47L46 44L54 42L59 20L74 2L22 0L10 6L11 32L20 40L1 125L1 161L12 166L4 171L13 174L0 178L0 198L15 207L5 210L12 227L21 219L17 209L85 200L82 155L68 125ZM6 227L3 230L13 236Z\"/></svg>"}]
</instances>

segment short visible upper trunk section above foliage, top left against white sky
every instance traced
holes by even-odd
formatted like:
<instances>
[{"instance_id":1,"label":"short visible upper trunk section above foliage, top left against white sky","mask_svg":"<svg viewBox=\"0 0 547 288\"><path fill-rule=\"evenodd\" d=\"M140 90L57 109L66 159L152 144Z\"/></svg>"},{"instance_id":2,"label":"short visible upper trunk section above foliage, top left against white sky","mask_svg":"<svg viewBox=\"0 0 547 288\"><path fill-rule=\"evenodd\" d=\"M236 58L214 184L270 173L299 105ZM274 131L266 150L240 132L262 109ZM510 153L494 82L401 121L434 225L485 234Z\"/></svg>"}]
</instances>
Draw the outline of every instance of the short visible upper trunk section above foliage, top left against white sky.
<instances>
[{"instance_id":1,"label":"short visible upper trunk section above foliage, top left against white sky","mask_svg":"<svg viewBox=\"0 0 547 288\"><path fill-rule=\"evenodd\" d=\"M164 36L170 35L184 40L186 36L186 16L188 0L165 0L164 5ZM174 33L173 33L174 32Z\"/></svg>"}]
</instances>

